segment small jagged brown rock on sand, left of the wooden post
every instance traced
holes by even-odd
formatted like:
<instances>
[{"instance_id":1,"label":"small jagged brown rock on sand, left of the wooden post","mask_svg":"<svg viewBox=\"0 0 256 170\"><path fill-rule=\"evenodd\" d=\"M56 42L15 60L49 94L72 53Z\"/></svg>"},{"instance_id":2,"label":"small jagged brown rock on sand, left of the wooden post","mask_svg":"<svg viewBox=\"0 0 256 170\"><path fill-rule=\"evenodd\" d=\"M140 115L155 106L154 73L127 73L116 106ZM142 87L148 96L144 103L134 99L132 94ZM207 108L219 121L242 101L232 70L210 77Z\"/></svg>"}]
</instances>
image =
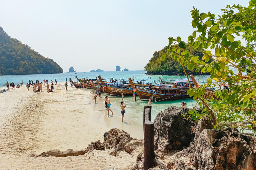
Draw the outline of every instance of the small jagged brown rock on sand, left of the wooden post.
<instances>
[{"instance_id":1,"label":"small jagged brown rock on sand, left of the wooden post","mask_svg":"<svg viewBox=\"0 0 256 170\"><path fill-rule=\"evenodd\" d=\"M132 137L124 130L112 128L108 131L109 135L104 139L103 144L106 148L115 148L118 150L125 150L124 146Z\"/></svg>"}]
</instances>

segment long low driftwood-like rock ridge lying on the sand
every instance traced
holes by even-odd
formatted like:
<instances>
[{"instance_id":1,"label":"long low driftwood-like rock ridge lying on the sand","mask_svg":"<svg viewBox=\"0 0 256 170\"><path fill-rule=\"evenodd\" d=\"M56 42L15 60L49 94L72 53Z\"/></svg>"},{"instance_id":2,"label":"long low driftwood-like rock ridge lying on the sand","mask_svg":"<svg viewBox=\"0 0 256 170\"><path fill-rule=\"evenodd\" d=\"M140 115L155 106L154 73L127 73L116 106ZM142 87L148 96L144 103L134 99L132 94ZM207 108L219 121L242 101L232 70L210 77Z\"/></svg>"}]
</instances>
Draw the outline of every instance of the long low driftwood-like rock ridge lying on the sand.
<instances>
[{"instance_id":1,"label":"long low driftwood-like rock ridge lying on the sand","mask_svg":"<svg viewBox=\"0 0 256 170\"><path fill-rule=\"evenodd\" d=\"M67 149L65 151L60 151L59 149L52 149L46 152L42 152L40 154L36 154L35 152L30 152L27 154L29 157L49 157L49 156L56 156L56 157L66 157L66 156L78 156L84 155L85 153L89 152L90 150L105 150L105 146L100 142L100 140L91 142L87 148L81 150L73 150Z\"/></svg>"}]
</instances>

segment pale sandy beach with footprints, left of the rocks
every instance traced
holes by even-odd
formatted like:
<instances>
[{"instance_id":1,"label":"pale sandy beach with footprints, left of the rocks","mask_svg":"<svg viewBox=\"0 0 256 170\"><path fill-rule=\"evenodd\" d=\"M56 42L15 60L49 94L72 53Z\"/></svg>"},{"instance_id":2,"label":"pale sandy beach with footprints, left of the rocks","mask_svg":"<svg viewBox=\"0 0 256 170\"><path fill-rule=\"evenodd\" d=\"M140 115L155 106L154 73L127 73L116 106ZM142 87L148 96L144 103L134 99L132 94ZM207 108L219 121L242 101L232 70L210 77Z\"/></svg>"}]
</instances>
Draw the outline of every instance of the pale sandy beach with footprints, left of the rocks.
<instances>
[{"instance_id":1,"label":"pale sandy beach with footprints, left of the rocks","mask_svg":"<svg viewBox=\"0 0 256 170\"><path fill-rule=\"evenodd\" d=\"M64 83L54 86L54 93L47 93L46 87L43 92L33 93L33 88L28 92L25 86L1 93L0 169L106 169L136 162L137 155L114 157L98 150L93 151L94 156L26 156L30 151L83 149L93 141L103 142L104 132L114 127L124 129L133 138L143 137L136 132L137 126L117 123L121 121L115 114L108 117L105 111L95 112L105 109L100 98L98 105L86 105L93 102L92 96L90 91L76 88L66 91Z\"/></svg>"}]
</instances>

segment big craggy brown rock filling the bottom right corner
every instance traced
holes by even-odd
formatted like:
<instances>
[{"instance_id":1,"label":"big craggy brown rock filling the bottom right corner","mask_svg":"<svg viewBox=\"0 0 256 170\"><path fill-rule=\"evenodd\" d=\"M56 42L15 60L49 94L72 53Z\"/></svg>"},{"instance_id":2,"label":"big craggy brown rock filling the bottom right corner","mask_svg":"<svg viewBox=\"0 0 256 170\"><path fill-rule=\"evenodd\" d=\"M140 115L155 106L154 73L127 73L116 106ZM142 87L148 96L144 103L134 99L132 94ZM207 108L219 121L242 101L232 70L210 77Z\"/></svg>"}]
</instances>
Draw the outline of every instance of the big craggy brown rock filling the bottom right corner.
<instances>
[{"instance_id":1,"label":"big craggy brown rock filling the bottom right corner","mask_svg":"<svg viewBox=\"0 0 256 170\"><path fill-rule=\"evenodd\" d=\"M256 169L256 137L234 128L214 130L203 117L190 146L168 158L168 168L190 170Z\"/></svg>"}]
</instances>

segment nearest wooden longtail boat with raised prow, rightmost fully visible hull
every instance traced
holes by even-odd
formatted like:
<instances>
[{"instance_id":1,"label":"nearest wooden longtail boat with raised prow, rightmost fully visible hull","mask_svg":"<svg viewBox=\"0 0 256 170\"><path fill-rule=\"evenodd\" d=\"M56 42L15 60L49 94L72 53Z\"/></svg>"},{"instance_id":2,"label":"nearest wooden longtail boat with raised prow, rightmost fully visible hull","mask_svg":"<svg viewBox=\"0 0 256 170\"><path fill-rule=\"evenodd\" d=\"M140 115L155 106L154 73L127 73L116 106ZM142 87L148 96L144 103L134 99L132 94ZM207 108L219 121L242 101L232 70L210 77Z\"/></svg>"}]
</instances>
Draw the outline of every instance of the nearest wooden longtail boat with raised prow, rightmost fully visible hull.
<instances>
[{"instance_id":1,"label":"nearest wooden longtail boat with raised prow, rightmost fully visible hull","mask_svg":"<svg viewBox=\"0 0 256 170\"><path fill-rule=\"evenodd\" d=\"M136 89L136 94L142 101L148 101L149 98L152 98L151 101L167 101L167 100L178 100L178 99L187 99L191 98L187 95L187 90L189 87L169 87L169 86L157 86L154 84L149 84L149 88L140 88L134 86L131 78L129 78L129 83L133 89Z\"/></svg>"}]
</instances>

